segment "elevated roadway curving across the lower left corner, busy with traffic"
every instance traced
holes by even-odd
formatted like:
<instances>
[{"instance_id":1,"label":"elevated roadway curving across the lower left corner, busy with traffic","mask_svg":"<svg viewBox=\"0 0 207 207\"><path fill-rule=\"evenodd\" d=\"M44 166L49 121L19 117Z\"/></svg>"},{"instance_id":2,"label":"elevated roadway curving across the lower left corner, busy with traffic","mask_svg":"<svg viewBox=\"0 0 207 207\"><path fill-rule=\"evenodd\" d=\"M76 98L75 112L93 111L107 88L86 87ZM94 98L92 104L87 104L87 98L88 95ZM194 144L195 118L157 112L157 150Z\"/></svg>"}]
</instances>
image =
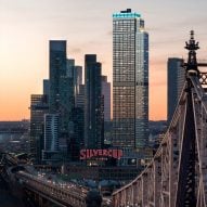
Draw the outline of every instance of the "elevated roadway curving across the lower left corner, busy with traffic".
<instances>
[{"instance_id":1,"label":"elevated roadway curving across the lower left corner, busy with traffic","mask_svg":"<svg viewBox=\"0 0 207 207\"><path fill-rule=\"evenodd\" d=\"M15 191L31 199L38 207L101 207L102 197L96 191L72 182L37 173L30 165L4 153L1 159L1 176ZM102 205L103 206L103 205Z\"/></svg>"}]
</instances>

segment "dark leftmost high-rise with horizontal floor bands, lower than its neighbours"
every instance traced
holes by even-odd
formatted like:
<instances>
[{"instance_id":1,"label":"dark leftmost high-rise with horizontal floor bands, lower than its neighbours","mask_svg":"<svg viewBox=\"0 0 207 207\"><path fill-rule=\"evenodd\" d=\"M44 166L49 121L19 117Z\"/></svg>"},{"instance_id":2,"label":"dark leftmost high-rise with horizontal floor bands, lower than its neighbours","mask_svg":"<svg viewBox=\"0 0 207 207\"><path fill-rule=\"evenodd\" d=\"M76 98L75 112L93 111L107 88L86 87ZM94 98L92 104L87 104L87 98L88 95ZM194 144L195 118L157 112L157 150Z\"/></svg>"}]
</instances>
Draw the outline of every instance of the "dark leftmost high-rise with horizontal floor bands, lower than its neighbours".
<instances>
[{"instance_id":1,"label":"dark leftmost high-rise with horizontal floor bands, lower than its neighbours","mask_svg":"<svg viewBox=\"0 0 207 207\"><path fill-rule=\"evenodd\" d=\"M41 163L43 150L44 114L49 112L48 98L42 94L31 94L30 98L30 154L34 163Z\"/></svg>"}]
</instances>

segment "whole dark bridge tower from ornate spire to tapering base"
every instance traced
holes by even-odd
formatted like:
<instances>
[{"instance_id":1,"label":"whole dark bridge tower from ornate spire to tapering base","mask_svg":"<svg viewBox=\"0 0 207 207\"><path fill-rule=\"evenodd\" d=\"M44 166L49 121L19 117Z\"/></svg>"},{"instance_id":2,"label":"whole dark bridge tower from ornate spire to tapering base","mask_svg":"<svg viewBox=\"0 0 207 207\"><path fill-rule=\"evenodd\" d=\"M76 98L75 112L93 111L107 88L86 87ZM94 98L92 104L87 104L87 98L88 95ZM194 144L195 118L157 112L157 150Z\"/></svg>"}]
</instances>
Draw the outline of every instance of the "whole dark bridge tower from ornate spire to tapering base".
<instances>
[{"instance_id":1,"label":"whole dark bridge tower from ornate spire to tapering base","mask_svg":"<svg viewBox=\"0 0 207 207\"><path fill-rule=\"evenodd\" d=\"M181 156L178 172L177 207L195 207L196 206L196 130L194 105L192 96L193 85L190 76L199 77L197 68L196 50L199 49L198 42L194 40L194 31L191 31L191 39L185 42L185 49L189 50L187 63L184 63L186 73L186 116L184 120L184 134L181 140Z\"/></svg>"}]
</instances>

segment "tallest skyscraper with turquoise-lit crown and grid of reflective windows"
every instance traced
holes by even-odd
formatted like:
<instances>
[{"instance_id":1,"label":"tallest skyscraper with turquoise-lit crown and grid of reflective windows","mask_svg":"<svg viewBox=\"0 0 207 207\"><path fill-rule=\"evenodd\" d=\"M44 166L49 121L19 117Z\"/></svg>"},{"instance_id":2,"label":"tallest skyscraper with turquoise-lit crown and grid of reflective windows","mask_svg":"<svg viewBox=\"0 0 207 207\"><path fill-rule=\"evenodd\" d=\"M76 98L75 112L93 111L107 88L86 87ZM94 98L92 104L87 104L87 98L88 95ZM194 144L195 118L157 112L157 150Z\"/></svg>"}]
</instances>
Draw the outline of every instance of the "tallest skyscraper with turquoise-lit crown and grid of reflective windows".
<instances>
[{"instance_id":1,"label":"tallest skyscraper with turquoise-lit crown and grid of reflective windows","mask_svg":"<svg viewBox=\"0 0 207 207\"><path fill-rule=\"evenodd\" d=\"M113 14L113 145L142 151L148 139L148 34L130 9Z\"/></svg>"}]
</instances>

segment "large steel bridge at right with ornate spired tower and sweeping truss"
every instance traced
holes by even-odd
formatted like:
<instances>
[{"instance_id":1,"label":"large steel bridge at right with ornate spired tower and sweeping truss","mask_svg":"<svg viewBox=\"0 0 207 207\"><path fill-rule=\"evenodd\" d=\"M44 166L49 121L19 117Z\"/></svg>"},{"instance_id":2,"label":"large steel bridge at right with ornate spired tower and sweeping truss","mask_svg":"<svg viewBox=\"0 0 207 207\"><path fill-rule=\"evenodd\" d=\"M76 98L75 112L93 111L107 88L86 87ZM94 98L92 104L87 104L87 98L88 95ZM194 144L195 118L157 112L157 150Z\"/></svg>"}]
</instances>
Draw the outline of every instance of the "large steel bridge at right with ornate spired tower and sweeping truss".
<instances>
[{"instance_id":1,"label":"large steel bridge at right with ornate spired tower and sweeping truss","mask_svg":"<svg viewBox=\"0 0 207 207\"><path fill-rule=\"evenodd\" d=\"M184 88L155 156L113 194L114 207L207 207L207 73L198 67L194 31L186 42Z\"/></svg>"}]
</instances>

